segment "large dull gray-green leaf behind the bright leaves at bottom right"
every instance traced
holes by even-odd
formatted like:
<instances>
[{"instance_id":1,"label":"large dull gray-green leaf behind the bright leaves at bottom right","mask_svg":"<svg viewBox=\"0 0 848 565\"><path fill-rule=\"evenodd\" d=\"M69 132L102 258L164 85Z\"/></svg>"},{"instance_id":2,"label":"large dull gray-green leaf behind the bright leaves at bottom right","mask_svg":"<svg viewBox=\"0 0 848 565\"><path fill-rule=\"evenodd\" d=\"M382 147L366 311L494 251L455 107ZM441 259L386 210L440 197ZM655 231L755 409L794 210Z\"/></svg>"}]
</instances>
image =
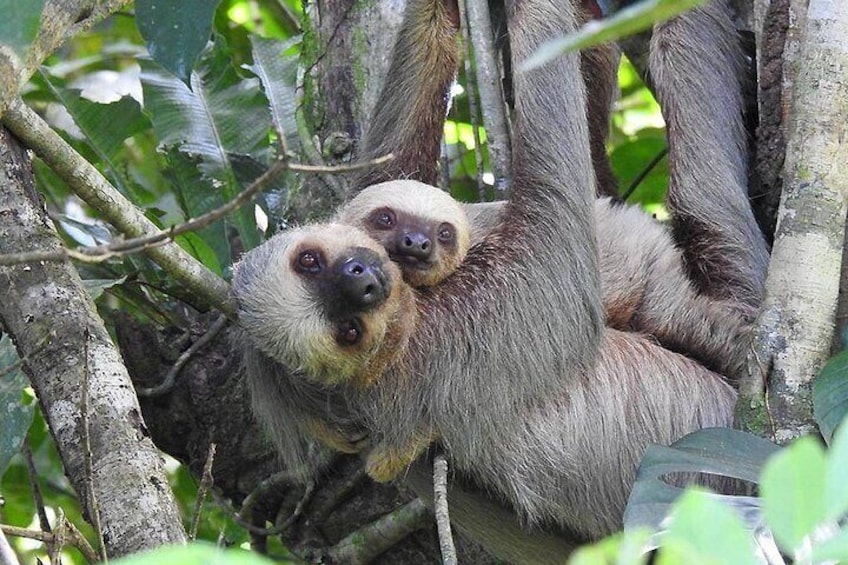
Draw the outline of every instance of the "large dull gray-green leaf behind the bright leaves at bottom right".
<instances>
[{"instance_id":1,"label":"large dull gray-green leaf behind the bright leaves at bottom right","mask_svg":"<svg viewBox=\"0 0 848 565\"><path fill-rule=\"evenodd\" d=\"M756 483L765 461L779 449L762 438L728 428L699 430L668 447L649 446L627 501L625 528L659 527L671 504L683 492L665 482L666 475L709 473ZM750 497L719 498L730 505L757 506Z\"/></svg>"}]
</instances>

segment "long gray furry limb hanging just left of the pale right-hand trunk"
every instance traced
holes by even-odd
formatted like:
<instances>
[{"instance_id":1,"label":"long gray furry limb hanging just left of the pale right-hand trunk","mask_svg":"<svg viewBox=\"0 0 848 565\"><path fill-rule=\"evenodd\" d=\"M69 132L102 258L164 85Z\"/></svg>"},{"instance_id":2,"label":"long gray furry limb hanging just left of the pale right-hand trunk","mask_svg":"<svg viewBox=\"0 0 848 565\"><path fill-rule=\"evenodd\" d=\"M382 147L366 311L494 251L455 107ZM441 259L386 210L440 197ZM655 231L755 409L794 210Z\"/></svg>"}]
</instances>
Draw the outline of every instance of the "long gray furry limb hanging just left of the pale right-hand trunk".
<instances>
[{"instance_id":1,"label":"long gray furry limb hanging just left of the pale right-hand trunk","mask_svg":"<svg viewBox=\"0 0 848 565\"><path fill-rule=\"evenodd\" d=\"M723 0L654 27L649 70L669 140L669 209L690 273L755 310L768 248L747 197L743 54Z\"/></svg>"}]
</instances>

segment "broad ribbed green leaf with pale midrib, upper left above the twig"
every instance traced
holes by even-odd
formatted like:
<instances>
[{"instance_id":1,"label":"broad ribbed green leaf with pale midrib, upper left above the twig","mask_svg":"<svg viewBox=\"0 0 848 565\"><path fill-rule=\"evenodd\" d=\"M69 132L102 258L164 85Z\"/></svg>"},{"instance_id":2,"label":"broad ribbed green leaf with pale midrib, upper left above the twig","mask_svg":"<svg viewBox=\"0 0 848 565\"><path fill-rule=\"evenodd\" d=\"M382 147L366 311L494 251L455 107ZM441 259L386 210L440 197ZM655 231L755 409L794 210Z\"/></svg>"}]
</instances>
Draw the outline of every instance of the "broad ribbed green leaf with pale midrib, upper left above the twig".
<instances>
[{"instance_id":1,"label":"broad ribbed green leaf with pale midrib, upper left above the twig","mask_svg":"<svg viewBox=\"0 0 848 565\"><path fill-rule=\"evenodd\" d=\"M220 39L201 55L191 89L152 61L142 61L141 80L160 143L196 158L195 176L208 181L175 186L187 215L208 212L242 190L232 155L267 162L267 100L257 79L236 73ZM259 243L252 207L237 211L233 221L245 248Z\"/></svg>"}]
</instances>

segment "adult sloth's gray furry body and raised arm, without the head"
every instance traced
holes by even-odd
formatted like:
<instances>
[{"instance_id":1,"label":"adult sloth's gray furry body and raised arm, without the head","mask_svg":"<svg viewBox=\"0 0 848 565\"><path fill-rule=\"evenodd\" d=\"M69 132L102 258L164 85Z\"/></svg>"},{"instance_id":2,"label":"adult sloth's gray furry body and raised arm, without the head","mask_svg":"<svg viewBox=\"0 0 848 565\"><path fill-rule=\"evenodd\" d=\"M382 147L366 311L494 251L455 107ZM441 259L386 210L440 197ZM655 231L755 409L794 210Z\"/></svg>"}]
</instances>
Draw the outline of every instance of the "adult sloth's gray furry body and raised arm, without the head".
<instances>
[{"instance_id":1,"label":"adult sloth's gray furry body and raised arm, without the head","mask_svg":"<svg viewBox=\"0 0 848 565\"><path fill-rule=\"evenodd\" d=\"M510 18L514 63L574 29L553 0ZM722 378L643 336L605 330L578 59L515 77L514 195L453 277L425 289L403 363L377 385L380 441L431 418L455 468L530 523L594 539L621 526L649 443L729 425ZM398 398L419 386L425 407ZM411 383L411 384L410 384Z\"/></svg>"}]
</instances>

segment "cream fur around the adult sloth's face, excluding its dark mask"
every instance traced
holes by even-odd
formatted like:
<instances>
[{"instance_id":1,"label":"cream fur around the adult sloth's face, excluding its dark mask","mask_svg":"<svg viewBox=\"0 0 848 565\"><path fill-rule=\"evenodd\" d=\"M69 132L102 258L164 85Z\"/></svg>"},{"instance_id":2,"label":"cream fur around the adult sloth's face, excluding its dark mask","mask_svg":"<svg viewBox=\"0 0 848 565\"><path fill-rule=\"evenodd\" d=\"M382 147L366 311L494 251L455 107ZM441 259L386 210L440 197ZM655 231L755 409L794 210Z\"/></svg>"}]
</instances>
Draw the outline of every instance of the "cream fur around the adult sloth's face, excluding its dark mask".
<instances>
[{"instance_id":1,"label":"cream fur around the adult sloth's face, excluding its dark mask","mask_svg":"<svg viewBox=\"0 0 848 565\"><path fill-rule=\"evenodd\" d=\"M391 291L383 304L357 314L363 328L360 341L340 345L339 321L327 318L307 276L293 266L305 250L319 251L332 265L355 248L380 256ZM251 341L275 361L324 384L356 376L378 353L401 308L399 283L400 271L380 245L364 232L339 224L276 235L237 264L233 277L239 325Z\"/></svg>"}]
</instances>

